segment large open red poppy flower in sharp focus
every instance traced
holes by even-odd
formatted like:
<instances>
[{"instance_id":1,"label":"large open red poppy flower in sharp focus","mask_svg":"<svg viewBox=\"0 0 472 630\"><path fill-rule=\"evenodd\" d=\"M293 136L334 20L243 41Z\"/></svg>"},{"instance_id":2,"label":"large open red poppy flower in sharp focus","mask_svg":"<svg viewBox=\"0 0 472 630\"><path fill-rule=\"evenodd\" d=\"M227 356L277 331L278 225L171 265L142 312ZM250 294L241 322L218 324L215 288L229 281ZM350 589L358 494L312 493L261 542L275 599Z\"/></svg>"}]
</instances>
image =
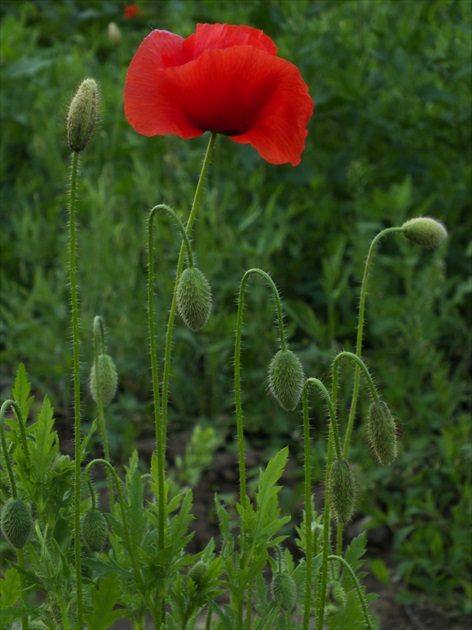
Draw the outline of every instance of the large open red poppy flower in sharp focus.
<instances>
[{"instance_id":1,"label":"large open red poppy flower in sharp focus","mask_svg":"<svg viewBox=\"0 0 472 630\"><path fill-rule=\"evenodd\" d=\"M313 101L297 67L276 52L249 26L198 24L186 39L152 31L128 68L126 118L145 136L213 131L296 166Z\"/></svg>"}]
</instances>

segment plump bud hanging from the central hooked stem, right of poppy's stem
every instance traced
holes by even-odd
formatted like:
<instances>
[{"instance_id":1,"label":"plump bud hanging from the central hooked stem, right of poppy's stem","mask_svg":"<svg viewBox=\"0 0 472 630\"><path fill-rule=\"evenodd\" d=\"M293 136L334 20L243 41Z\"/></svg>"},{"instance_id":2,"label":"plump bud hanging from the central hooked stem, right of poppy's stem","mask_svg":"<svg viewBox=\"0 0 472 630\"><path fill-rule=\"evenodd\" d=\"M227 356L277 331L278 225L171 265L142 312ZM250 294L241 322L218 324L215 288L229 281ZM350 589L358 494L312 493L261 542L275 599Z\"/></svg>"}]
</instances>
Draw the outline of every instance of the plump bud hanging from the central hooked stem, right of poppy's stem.
<instances>
[{"instance_id":1,"label":"plump bud hanging from the central hooked stem, right of poppy's stem","mask_svg":"<svg viewBox=\"0 0 472 630\"><path fill-rule=\"evenodd\" d=\"M269 365L269 389L282 409L292 411L303 391L303 366L291 350L279 350Z\"/></svg>"}]
</instances>

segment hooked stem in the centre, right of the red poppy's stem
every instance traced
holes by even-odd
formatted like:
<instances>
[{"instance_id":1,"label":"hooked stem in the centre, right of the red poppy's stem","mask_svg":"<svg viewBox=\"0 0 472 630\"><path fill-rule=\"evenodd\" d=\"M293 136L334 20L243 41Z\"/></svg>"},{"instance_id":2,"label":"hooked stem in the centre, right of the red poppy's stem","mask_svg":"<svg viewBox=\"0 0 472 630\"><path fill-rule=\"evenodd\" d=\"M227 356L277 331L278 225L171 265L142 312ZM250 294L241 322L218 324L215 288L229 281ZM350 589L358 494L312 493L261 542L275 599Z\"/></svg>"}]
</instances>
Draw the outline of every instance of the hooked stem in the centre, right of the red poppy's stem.
<instances>
[{"instance_id":1,"label":"hooked stem in the centre, right of the red poppy's stem","mask_svg":"<svg viewBox=\"0 0 472 630\"><path fill-rule=\"evenodd\" d=\"M272 293L274 296L275 307L277 311L277 321L279 327L279 337L280 337L280 345L282 350L285 350L287 347L287 343L285 341L285 331L283 327L283 318L282 318L282 304L280 301L279 292L277 287L275 286L274 281L269 276L268 273L262 271L262 269L249 269L244 274L241 285L239 287L239 297L238 297L238 315L236 320L236 339L234 344L234 397L235 397L235 406L236 406L236 431L238 435L238 453L239 453L239 492L240 492L240 503L241 506L244 507L246 505L246 467L245 467L245 458L244 458L244 429L243 429L243 411L242 411L242 403L241 403L241 336L243 329L243 311L244 311L244 291L246 288L246 283L249 277L252 274L261 275L269 287L272 289Z\"/></svg>"}]
</instances>

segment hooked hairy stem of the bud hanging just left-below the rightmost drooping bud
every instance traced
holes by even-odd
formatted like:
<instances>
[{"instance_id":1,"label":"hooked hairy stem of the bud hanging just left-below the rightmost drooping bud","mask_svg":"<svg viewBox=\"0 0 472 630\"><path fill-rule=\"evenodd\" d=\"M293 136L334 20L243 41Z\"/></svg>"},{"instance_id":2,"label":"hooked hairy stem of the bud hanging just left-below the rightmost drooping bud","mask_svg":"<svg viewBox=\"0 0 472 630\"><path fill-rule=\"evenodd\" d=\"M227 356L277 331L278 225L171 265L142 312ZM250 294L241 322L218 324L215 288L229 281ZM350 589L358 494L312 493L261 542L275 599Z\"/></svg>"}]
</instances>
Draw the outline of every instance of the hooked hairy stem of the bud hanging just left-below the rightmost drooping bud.
<instances>
[{"instance_id":1,"label":"hooked hairy stem of the bud hanging just left-below the rightmost drooping bud","mask_svg":"<svg viewBox=\"0 0 472 630\"><path fill-rule=\"evenodd\" d=\"M305 602L303 611L303 630L308 630L310 625L310 609L311 609L311 580L313 565L313 510L311 501L311 449L310 449L310 419L308 415L308 389L312 385L321 390L324 399L328 405L330 417L330 434L331 427L333 431L336 453L340 452L340 442L338 429L336 425L336 415L333 402L324 384L317 378L308 378L303 385L302 393L302 409L303 409L303 446L305 459L305 546L306 546L306 573L305 573ZM325 507L326 516L326 507Z\"/></svg>"}]
</instances>

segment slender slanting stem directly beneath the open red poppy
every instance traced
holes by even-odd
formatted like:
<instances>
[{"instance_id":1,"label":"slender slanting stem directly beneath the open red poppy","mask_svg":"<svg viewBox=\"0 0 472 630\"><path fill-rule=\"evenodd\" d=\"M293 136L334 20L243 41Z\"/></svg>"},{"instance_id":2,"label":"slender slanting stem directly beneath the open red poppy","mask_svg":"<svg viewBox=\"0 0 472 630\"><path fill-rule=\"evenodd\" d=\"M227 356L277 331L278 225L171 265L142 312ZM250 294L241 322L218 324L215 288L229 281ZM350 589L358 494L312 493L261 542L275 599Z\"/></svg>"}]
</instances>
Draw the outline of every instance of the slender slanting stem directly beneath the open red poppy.
<instances>
[{"instance_id":1,"label":"slender slanting stem directly beneath the open red poppy","mask_svg":"<svg viewBox=\"0 0 472 630\"><path fill-rule=\"evenodd\" d=\"M195 190L195 195L193 198L192 208L190 210L190 215L187 221L187 226L185 228L186 234L189 237L192 233L193 224L195 222L195 218L197 216L197 211L200 206L200 199L203 192L203 184L205 182L205 177L208 172L208 168L211 162L211 156L213 154L213 149L216 142L216 133L211 132L210 140L208 141L207 150L205 153L205 158L202 164L202 170L200 172L200 177L198 179L197 188ZM174 293L172 296L172 303L169 312L169 319L167 322L167 333L166 333L166 346L165 346L165 355L164 355L164 375L162 382L162 435L164 439L167 434L167 401L169 395L169 381L170 381L170 362L171 362L171 354L172 354L172 337L174 331L174 321L175 314L177 310L177 283L182 274L182 269L184 266L184 253L185 253L185 242L182 243L180 247L179 260L177 262L177 271L175 274L175 285L174 285ZM165 444L164 444L164 452L165 452Z\"/></svg>"}]
</instances>

